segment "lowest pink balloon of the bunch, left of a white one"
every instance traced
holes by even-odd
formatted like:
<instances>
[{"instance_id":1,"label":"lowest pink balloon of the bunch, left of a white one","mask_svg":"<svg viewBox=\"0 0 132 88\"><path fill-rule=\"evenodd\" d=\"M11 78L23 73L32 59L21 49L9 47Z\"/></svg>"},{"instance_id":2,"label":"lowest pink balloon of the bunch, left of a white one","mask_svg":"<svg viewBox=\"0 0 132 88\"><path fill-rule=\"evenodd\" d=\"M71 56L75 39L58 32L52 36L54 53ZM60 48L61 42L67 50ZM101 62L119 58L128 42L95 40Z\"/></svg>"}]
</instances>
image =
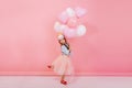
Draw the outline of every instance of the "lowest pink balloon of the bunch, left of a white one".
<instances>
[{"instance_id":1,"label":"lowest pink balloon of the bunch, left of a white one","mask_svg":"<svg viewBox=\"0 0 132 88\"><path fill-rule=\"evenodd\" d=\"M65 29L64 30L64 35L67 38L76 37L76 30L75 29Z\"/></svg>"}]
</instances>

